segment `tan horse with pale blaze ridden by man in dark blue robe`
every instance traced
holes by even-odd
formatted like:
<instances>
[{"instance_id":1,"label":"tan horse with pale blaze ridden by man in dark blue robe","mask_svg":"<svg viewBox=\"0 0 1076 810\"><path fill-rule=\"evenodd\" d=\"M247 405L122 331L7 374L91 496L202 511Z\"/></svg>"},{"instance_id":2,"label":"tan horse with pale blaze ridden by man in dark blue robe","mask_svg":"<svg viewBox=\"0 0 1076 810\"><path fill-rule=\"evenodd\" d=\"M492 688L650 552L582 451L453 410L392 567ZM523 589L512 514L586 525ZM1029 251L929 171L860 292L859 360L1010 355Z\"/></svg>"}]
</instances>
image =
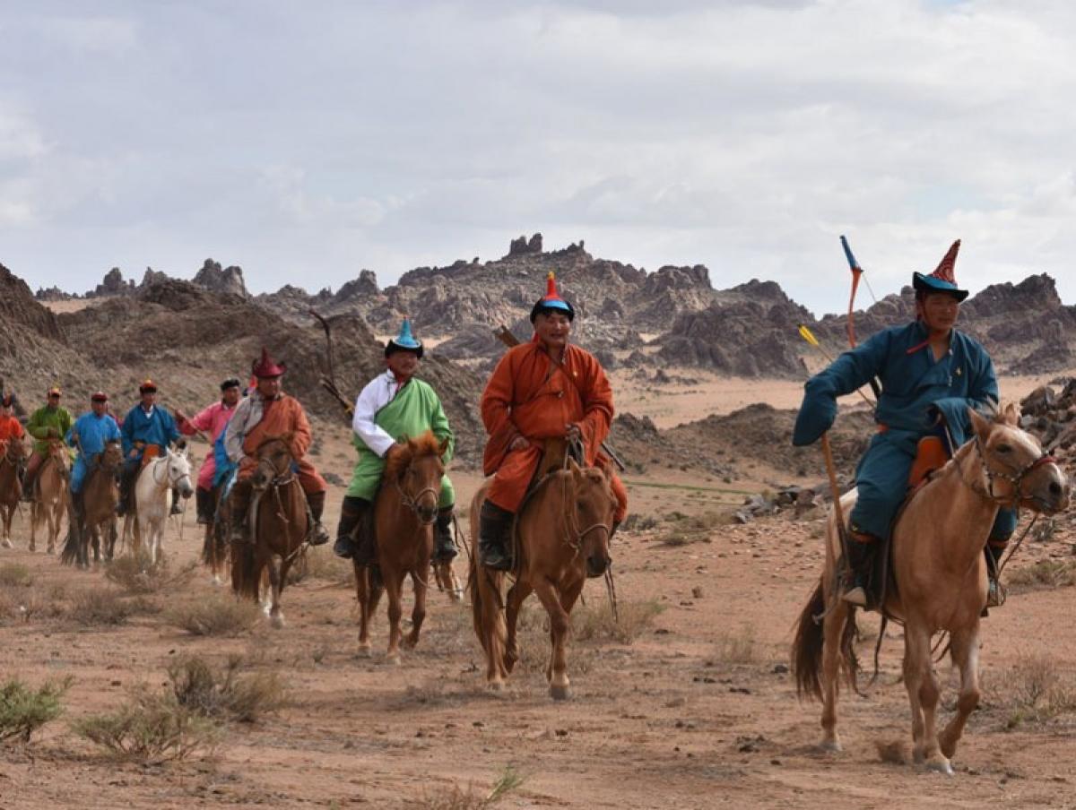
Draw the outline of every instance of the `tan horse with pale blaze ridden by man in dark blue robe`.
<instances>
[{"instance_id":1,"label":"tan horse with pale blaze ridden by man in dark blue robe","mask_svg":"<svg viewBox=\"0 0 1076 810\"><path fill-rule=\"evenodd\" d=\"M1021 506L1053 514L1068 506L1068 482L1034 437L1017 425L1008 404L993 420L969 411L973 436L907 503L893 529L895 586L884 611L904 623L904 683L911 704L914 756L932 770L952 772L949 759L968 714L979 702L979 614L987 602L983 546L1000 507ZM840 499L845 514L855 491ZM837 560L840 539L831 513L825 568L799 616L792 662L801 695L821 698L821 747L839 751L837 693L841 665L855 685L854 608L840 599ZM821 622L821 624L819 624ZM938 734L939 687L931 639L949 634L960 670L957 714Z\"/></svg>"}]
</instances>

